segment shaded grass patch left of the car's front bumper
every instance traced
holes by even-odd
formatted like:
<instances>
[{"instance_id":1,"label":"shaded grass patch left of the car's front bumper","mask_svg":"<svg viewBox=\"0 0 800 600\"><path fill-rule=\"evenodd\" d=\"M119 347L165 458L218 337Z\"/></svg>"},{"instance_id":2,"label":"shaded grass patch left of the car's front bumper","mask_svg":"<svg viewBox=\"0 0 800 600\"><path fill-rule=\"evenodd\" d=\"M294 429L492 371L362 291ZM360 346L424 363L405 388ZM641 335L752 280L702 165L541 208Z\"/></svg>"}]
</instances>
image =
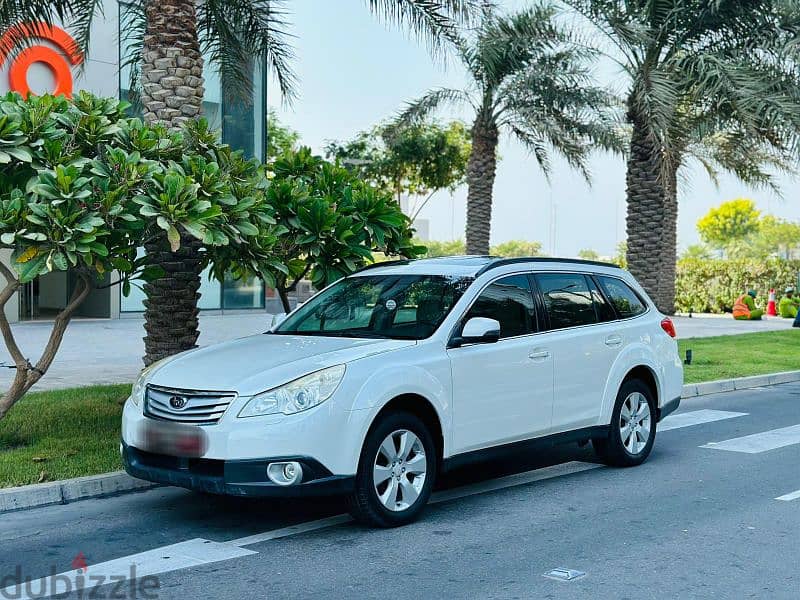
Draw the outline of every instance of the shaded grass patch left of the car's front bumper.
<instances>
[{"instance_id":1,"label":"shaded grass patch left of the car's front bumper","mask_svg":"<svg viewBox=\"0 0 800 600\"><path fill-rule=\"evenodd\" d=\"M0 487L122 468L122 402L130 385L27 394L0 421Z\"/></svg>"}]
</instances>

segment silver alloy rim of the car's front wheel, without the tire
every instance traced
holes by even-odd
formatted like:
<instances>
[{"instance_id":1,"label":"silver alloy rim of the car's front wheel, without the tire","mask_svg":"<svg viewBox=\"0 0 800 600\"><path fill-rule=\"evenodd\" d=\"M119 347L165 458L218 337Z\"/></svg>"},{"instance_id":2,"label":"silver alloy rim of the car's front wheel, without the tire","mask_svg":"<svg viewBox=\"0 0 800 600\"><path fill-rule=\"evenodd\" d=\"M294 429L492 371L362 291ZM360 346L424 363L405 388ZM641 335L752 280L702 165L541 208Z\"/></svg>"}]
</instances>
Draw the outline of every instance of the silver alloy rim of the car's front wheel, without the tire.
<instances>
[{"instance_id":1,"label":"silver alloy rim of the car's front wheel, without the tire","mask_svg":"<svg viewBox=\"0 0 800 600\"><path fill-rule=\"evenodd\" d=\"M372 473L375 492L384 507L406 510L419 498L428 462L422 440L407 429L393 431L375 455Z\"/></svg>"}]
</instances>

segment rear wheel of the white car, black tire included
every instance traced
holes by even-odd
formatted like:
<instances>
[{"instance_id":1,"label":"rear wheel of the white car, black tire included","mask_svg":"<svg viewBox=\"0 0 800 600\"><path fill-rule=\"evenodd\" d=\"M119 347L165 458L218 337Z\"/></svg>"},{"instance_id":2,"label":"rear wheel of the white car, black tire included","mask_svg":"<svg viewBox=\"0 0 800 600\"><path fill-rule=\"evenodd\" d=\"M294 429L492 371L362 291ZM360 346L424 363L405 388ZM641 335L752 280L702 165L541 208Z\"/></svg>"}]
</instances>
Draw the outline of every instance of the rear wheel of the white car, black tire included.
<instances>
[{"instance_id":1,"label":"rear wheel of the white car, black tire included","mask_svg":"<svg viewBox=\"0 0 800 600\"><path fill-rule=\"evenodd\" d=\"M653 391L641 379L630 379L617 392L608 435L592 445L600 459L614 467L635 467L650 455L656 439Z\"/></svg>"}]
</instances>

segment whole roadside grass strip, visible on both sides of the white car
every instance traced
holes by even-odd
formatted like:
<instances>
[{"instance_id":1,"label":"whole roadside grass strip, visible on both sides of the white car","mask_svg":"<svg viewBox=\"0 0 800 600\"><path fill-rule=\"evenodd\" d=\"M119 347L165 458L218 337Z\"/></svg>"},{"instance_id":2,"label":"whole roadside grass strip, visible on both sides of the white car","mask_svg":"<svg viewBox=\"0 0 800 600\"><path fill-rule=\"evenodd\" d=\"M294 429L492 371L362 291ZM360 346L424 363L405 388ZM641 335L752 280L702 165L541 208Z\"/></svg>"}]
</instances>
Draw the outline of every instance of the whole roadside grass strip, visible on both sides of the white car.
<instances>
[{"instance_id":1,"label":"whole roadside grass strip, visible on both sides of the white car","mask_svg":"<svg viewBox=\"0 0 800 600\"><path fill-rule=\"evenodd\" d=\"M686 383L800 369L800 330L680 340ZM28 394L0 421L0 487L122 468L119 427L130 385Z\"/></svg>"}]
</instances>

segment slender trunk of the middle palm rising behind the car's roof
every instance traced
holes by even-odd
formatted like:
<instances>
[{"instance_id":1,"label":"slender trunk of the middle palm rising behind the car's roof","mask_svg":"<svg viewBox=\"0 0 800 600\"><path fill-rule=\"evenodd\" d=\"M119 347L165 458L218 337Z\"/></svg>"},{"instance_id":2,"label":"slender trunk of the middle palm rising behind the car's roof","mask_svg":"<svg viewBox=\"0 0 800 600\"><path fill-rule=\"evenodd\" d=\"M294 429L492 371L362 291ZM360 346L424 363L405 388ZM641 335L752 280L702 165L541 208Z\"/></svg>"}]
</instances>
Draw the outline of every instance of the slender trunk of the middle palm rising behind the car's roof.
<instances>
[{"instance_id":1,"label":"slender trunk of the middle palm rising behind the car's roof","mask_svg":"<svg viewBox=\"0 0 800 600\"><path fill-rule=\"evenodd\" d=\"M475 121L467 162L467 254L489 254L492 189L497 170L498 131L494 123Z\"/></svg>"}]
</instances>

